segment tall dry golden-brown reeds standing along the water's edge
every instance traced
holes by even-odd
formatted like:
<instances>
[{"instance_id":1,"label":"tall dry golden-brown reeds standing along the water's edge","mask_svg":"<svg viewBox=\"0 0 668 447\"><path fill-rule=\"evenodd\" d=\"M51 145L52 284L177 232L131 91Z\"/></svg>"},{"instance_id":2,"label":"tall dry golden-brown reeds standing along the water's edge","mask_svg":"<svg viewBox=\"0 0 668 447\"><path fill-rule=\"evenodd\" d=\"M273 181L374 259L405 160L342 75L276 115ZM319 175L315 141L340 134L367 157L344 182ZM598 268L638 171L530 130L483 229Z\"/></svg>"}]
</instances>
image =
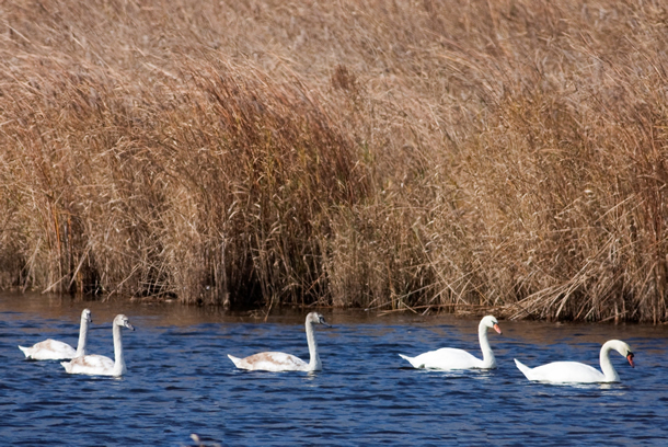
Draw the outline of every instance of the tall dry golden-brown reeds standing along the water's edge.
<instances>
[{"instance_id":1,"label":"tall dry golden-brown reeds standing along the water's edge","mask_svg":"<svg viewBox=\"0 0 668 447\"><path fill-rule=\"evenodd\" d=\"M0 18L4 287L668 317L663 2Z\"/></svg>"}]
</instances>

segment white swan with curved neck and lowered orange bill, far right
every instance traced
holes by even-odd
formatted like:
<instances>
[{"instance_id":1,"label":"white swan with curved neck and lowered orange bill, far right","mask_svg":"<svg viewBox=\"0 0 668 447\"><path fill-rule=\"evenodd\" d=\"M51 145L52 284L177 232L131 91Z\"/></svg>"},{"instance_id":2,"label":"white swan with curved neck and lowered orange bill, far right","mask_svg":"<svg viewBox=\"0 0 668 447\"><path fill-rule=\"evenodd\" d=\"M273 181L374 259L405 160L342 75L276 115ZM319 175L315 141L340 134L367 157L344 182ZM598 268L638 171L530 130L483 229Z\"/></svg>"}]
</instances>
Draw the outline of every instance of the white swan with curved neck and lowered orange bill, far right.
<instances>
[{"instance_id":1,"label":"white swan with curved neck and lowered orange bill, far right","mask_svg":"<svg viewBox=\"0 0 668 447\"><path fill-rule=\"evenodd\" d=\"M578 362L553 362L546 365L529 368L517 358L515 364L529 380L540 380L553 383L596 383L620 381L610 362L610 349L614 349L629 360L633 367L633 353L631 347L619 340L610 340L601 347L600 364L601 371Z\"/></svg>"}]
</instances>

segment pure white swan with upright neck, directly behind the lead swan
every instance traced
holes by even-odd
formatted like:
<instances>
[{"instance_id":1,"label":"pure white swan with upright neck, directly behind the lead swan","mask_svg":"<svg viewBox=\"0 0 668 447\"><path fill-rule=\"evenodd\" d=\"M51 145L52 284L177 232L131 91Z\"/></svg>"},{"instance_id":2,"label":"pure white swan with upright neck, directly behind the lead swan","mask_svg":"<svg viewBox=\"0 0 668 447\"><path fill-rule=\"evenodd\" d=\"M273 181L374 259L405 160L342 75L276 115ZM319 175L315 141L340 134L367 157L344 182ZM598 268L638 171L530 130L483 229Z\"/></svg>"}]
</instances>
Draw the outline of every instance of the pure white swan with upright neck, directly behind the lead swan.
<instances>
[{"instance_id":1,"label":"pure white swan with upright neck, directly behind the lead swan","mask_svg":"<svg viewBox=\"0 0 668 447\"><path fill-rule=\"evenodd\" d=\"M415 368L428 369L491 369L496 368L496 358L487 341L487 329L494 328L496 332L502 333L498 326L498 321L492 316L484 317L477 325L477 337L480 340L480 348L483 352L483 359L476 358L463 349L453 347L442 347L437 351L429 351L421 354L417 357L408 357L399 354L413 365Z\"/></svg>"}]
</instances>

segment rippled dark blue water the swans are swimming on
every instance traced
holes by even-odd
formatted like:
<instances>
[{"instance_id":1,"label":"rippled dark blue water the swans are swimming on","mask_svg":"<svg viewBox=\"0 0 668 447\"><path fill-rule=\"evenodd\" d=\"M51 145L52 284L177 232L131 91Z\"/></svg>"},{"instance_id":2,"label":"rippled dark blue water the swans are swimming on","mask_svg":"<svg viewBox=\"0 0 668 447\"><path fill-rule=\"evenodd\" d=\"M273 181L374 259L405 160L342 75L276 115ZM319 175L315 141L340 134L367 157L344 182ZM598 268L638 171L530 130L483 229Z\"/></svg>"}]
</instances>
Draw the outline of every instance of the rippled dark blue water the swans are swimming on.
<instances>
[{"instance_id":1,"label":"rippled dark blue water the swans are swimming on","mask_svg":"<svg viewBox=\"0 0 668 447\"><path fill-rule=\"evenodd\" d=\"M93 311L92 353L113 357L111 321L126 313L128 373L70 376L57 362L28 362L16 345L54 337L76 345L81 310ZM452 346L480 356L477 319L322 313L323 370L240 371L227 354L284 351L308 360L302 312L263 318L180 305L81 302L0 295L0 439L25 446L207 445L666 445L667 325L500 321L490 333L498 368L412 369L398 354ZM601 343L617 353L621 383L529 382L528 366L571 359L596 366Z\"/></svg>"}]
</instances>

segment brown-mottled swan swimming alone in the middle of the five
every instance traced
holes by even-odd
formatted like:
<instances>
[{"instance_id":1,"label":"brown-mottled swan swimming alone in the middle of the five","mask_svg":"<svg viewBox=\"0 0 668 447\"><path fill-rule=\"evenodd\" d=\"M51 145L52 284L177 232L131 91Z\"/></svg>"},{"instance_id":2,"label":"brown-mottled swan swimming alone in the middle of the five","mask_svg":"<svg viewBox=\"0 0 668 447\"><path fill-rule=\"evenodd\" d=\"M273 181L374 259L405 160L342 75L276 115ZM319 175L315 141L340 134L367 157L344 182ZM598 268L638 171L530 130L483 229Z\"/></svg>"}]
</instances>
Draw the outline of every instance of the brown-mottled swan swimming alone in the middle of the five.
<instances>
[{"instance_id":1,"label":"brown-mottled swan swimming alone in the middle of the five","mask_svg":"<svg viewBox=\"0 0 668 447\"><path fill-rule=\"evenodd\" d=\"M291 354L276 352L258 353L245 358L239 358L228 354L228 357L230 357L230 360L232 360L239 369L273 373L319 371L322 369L322 363L320 362L320 355L318 354L318 342L315 342L315 334L313 333L313 323L331 328L326 323L324 317L320 313L311 312L307 316L307 341L309 343L309 354L311 355L311 360L309 363L306 363Z\"/></svg>"}]
</instances>

